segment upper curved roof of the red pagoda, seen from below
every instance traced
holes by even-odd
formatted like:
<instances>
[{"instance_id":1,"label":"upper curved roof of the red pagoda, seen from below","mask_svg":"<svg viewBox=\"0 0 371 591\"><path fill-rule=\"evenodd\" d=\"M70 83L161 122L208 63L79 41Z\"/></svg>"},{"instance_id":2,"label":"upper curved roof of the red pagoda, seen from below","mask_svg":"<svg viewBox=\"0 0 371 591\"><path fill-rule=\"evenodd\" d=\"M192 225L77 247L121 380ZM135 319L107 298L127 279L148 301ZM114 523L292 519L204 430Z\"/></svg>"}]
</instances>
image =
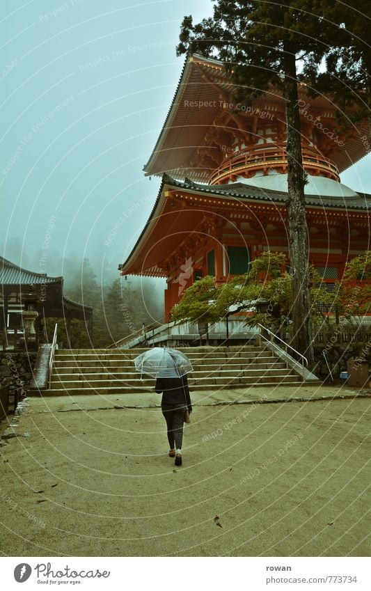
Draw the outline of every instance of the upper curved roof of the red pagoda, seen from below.
<instances>
[{"instance_id":1,"label":"upper curved roof of the red pagoda, seen from below","mask_svg":"<svg viewBox=\"0 0 371 591\"><path fill-rule=\"evenodd\" d=\"M250 107L233 103L233 88L220 61L196 54L189 56L155 149L143 168L145 174L168 173L174 178L208 182L223 161L221 130L226 132L228 144L228 134L232 137L251 131L257 113L260 119L262 113L266 113L266 121L271 117L275 124L285 126L284 102L278 90L267 90ZM320 129L336 129L336 106L331 100L324 96L308 97L303 83L299 84L299 98L304 125L308 122L313 125L314 121L315 127L318 125ZM368 133L366 121L343 133L342 141L329 141L321 131L322 152L342 172L367 153L364 136ZM333 135L336 136L336 132ZM203 160L205 153L207 159Z\"/></svg>"}]
</instances>

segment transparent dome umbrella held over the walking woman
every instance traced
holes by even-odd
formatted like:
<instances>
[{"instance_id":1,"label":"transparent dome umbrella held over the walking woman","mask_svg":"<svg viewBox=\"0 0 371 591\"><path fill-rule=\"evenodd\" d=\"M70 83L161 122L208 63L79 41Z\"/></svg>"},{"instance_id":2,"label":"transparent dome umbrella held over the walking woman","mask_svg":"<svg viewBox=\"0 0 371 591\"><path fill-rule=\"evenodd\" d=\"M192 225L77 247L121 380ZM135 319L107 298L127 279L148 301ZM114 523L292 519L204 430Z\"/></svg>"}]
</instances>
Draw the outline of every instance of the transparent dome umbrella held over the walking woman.
<instances>
[{"instance_id":1,"label":"transparent dome umbrella held over the walking woman","mask_svg":"<svg viewBox=\"0 0 371 591\"><path fill-rule=\"evenodd\" d=\"M136 357L134 363L137 372L152 377L180 377L194 370L187 356L168 347L153 347Z\"/></svg>"}]
</instances>

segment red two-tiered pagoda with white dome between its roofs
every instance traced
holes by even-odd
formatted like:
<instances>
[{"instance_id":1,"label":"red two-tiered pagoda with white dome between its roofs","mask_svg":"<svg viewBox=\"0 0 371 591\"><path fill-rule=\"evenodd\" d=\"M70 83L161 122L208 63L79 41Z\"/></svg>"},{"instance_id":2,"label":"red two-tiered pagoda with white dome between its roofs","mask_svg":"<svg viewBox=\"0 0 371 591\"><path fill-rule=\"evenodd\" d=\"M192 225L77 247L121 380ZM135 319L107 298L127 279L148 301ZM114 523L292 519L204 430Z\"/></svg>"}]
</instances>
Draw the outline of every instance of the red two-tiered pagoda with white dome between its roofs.
<instances>
[{"instance_id":1,"label":"red two-tiered pagoda with white dome between its roofs","mask_svg":"<svg viewBox=\"0 0 371 591\"><path fill-rule=\"evenodd\" d=\"M122 275L164 277L165 321L197 278L217 283L245 273L263 251L289 251L285 104L270 88L233 99L223 65L194 54L184 64L145 175L161 176L152 213ZM347 261L370 244L371 195L339 173L368 152L365 121L336 132L336 107L299 85L310 263L331 291Z\"/></svg>"}]
</instances>

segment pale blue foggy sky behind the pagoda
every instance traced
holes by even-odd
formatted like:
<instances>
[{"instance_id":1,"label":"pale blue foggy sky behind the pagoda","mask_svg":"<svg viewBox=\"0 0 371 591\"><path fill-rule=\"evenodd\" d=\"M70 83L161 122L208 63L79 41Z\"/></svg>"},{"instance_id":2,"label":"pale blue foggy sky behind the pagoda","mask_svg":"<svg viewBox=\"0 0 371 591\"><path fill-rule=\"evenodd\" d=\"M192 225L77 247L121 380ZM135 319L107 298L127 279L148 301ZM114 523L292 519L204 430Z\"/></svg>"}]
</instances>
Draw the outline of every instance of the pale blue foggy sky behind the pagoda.
<instances>
[{"instance_id":1,"label":"pale blue foggy sky behind the pagoda","mask_svg":"<svg viewBox=\"0 0 371 591\"><path fill-rule=\"evenodd\" d=\"M1 3L0 244L19 237L31 260L47 240L95 269L127 258L159 189L142 169L180 78L184 14L198 22L212 2ZM367 157L342 182L371 192L370 178Z\"/></svg>"}]
</instances>

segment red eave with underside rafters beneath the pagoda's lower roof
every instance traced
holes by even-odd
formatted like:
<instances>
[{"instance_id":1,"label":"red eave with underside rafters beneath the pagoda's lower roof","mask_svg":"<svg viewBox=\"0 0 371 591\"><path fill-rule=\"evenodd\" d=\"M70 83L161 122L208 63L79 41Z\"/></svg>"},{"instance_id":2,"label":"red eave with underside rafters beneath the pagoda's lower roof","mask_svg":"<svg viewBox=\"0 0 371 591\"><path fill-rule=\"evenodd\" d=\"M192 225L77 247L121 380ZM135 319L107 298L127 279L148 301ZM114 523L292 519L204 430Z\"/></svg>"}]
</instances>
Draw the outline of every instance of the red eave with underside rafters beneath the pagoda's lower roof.
<instances>
[{"instance_id":1,"label":"red eave with underside rafters beneath the pagoda's lower roof","mask_svg":"<svg viewBox=\"0 0 371 591\"><path fill-rule=\"evenodd\" d=\"M245 194L237 191L245 191ZM308 223L321 228L323 224L336 228L349 223L367 228L369 198L356 194L347 199L308 196ZM161 216L148 221L129 258L121 265L120 274L169 278L189 257L196 260L196 251L207 249L207 244L215 239L230 244L242 239L242 223L247 224L247 228L248 223L253 223L255 228L242 232L248 234L248 242L265 247L269 245L265 236L269 224L276 227L277 235L285 236L286 200L287 194L246 184L196 187L191 182L187 184L166 177L158 198ZM232 230L225 229L228 225ZM275 249L281 248L278 242Z\"/></svg>"}]
</instances>

